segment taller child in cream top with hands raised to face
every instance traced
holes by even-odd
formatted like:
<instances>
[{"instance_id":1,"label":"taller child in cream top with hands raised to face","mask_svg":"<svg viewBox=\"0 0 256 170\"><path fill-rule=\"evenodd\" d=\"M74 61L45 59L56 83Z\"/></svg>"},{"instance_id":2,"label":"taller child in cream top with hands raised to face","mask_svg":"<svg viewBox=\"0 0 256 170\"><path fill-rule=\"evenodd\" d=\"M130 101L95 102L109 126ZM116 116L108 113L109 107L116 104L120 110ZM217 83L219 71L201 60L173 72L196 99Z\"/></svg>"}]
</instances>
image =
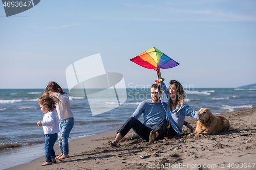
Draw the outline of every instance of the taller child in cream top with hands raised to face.
<instances>
[{"instance_id":1,"label":"taller child in cream top with hands raised to face","mask_svg":"<svg viewBox=\"0 0 256 170\"><path fill-rule=\"evenodd\" d=\"M69 133L72 130L75 119L70 109L69 96L67 92L55 82L50 82L45 89L45 93L56 101L56 112L59 117L59 148L60 155L57 159L65 159L69 157Z\"/></svg>"}]
</instances>

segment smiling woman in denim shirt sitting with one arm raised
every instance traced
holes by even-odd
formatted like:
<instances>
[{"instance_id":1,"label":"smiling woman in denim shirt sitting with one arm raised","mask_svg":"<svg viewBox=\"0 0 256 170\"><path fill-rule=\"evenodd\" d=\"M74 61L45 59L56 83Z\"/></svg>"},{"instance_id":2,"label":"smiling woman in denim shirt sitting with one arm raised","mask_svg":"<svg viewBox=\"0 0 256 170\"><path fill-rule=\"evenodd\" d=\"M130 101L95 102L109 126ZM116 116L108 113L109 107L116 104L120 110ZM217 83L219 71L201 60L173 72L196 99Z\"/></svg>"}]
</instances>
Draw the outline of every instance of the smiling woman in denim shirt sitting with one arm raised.
<instances>
[{"instance_id":1,"label":"smiling woman in denim shirt sitting with one arm raised","mask_svg":"<svg viewBox=\"0 0 256 170\"><path fill-rule=\"evenodd\" d=\"M167 122L170 123L172 128L167 129L167 136L181 135L183 125L186 125L192 133L193 127L184 121L184 119L185 116L197 118L198 111L191 109L185 103L185 91L180 82L171 80L169 89L167 90L163 82L164 78L161 77L160 68L157 69L159 85L161 85L162 93L164 93L168 99L167 114L169 121L167 120Z\"/></svg>"}]
</instances>

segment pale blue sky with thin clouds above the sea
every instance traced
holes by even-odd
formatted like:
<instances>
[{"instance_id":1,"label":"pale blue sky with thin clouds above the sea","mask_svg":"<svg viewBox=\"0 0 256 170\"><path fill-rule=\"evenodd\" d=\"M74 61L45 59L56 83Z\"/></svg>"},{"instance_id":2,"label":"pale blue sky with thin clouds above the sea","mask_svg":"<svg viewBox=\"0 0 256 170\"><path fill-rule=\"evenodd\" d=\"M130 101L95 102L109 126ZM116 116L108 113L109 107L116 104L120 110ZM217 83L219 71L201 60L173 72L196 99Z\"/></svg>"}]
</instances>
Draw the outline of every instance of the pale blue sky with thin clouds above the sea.
<instances>
[{"instance_id":1,"label":"pale blue sky with thin clouds above the sea","mask_svg":"<svg viewBox=\"0 0 256 170\"><path fill-rule=\"evenodd\" d=\"M6 17L0 7L0 88L67 88L66 69L100 53L127 88L156 71L130 59L156 47L179 62L162 77L194 88L256 83L256 1L44 0Z\"/></svg>"}]
</instances>

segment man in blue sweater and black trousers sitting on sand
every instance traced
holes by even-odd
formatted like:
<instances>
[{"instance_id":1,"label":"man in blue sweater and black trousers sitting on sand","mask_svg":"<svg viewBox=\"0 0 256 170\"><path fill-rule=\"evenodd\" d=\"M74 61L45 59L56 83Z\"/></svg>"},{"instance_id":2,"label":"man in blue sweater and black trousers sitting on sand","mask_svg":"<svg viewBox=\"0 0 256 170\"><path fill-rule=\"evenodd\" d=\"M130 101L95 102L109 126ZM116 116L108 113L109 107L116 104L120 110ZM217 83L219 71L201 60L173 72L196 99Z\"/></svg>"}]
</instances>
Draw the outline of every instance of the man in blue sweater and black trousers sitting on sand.
<instances>
[{"instance_id":1,"label":"man in blue sweater and black trousers sitting on sand","mask_svg":"<svg viewBox=\"0 0 256 170\"><path fill-rule=\"evenodd\" d=\"M156 139L164 138L167 127L165 118L167 104L161 103L162 92L159 85L153 84L150 91L152 99L139 104L133 115L117 130L115 140L109 141L110 145L115 146L132 128L143 140L154 142ZM142 113L143 124L137 119Z\"/></svg>"}]
</instances>

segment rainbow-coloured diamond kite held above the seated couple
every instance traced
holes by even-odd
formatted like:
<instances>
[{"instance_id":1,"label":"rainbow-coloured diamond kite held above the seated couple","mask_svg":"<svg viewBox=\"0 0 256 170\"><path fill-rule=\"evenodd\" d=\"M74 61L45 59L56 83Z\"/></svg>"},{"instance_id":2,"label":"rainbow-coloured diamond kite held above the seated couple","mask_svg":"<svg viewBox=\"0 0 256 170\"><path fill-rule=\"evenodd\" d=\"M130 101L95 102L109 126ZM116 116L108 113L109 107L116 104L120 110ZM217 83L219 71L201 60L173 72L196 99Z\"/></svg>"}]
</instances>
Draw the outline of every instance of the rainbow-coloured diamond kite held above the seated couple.
<instances>
[{"instance_id":1,"label":"rainbow-coloured diamond kite held above the seated couple","mask_svg":"<svg viewBox=\"0 0 256 170\"><path fill-rule=\"evenodd\" d=\"M156 47L152 47L150 48L150 50L147 50L140 55L132 58L131 61L148 69L153 69L157 67L172 68L180 64L166 56Z\"/></svg>"}]
</instances>

